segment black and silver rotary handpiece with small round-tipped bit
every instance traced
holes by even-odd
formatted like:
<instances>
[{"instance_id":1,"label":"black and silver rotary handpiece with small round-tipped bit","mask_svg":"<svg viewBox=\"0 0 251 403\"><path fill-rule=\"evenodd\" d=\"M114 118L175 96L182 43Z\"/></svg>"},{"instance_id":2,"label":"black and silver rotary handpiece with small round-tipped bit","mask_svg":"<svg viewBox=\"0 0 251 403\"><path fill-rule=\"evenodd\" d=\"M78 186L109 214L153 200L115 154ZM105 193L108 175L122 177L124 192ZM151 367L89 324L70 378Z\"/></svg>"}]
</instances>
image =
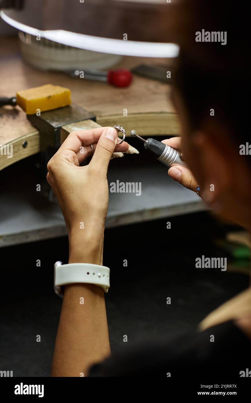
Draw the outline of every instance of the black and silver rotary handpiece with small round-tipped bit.
<instances>
[{"instance_id":1,"label":"black and silver rotary handpiece with small round-tipped bit","mask_svg":"<svg viewBox=\"0 0 251 403\"><path fill-rule=\"evenodd\" d=\"M142 139L142 137L136 134L135 130L130 131L132 137L138 137L141 141L144 141L144 147L146 150L150 151L160 162L166 166L173 165L183 165L186 166L185 162L181 159L182 153L170 147L170 145L161 143L154 139Z\"/></svg>"}]
</instances>

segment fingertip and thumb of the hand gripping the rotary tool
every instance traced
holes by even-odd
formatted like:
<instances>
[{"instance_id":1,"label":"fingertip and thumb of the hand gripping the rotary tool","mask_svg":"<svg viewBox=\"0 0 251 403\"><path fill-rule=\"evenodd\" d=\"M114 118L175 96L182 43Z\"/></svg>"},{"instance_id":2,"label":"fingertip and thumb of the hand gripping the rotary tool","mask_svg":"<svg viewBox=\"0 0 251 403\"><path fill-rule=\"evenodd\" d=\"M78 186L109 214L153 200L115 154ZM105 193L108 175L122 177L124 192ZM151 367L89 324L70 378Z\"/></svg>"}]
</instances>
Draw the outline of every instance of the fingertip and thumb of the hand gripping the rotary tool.
<instances>
[{"instance_id":1,"label":"fingertip and thumb of the hand gripping the rotary tool","mask_svg":"<svg viewBox=\"0 0 251 403\"><path fill-rule=\"evenodd\" d=\"M181 137L172 137L171 139L163 140L162 143L170 145L170 147L181 152ZM187 189L196 192L196 186L198 183L188 168L185 168L182 165L171 166L168 170L168 174L174 181L177 181Z\"/></svg>"}]
</instances>

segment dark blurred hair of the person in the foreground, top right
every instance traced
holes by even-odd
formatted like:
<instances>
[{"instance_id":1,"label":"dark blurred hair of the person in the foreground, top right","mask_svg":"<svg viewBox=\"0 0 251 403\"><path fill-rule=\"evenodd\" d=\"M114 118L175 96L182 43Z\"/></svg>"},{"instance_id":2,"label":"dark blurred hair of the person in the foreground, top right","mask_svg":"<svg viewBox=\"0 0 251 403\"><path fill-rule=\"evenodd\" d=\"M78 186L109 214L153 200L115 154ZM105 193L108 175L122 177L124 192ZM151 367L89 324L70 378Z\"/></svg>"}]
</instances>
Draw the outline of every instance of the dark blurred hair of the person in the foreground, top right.
<instances>
[{"instance_id":1,"label":"dark blurred hair of the person in the foreground, top right","mask_svg":"<svg viewBox=\"0 0 251 403\"><path fill-rule=\"evenodd\" d=\"M250 141L249 12L244 2L183 0L176 88L181 92L190 124L198 129L214 117L227 126L235 142ZM196 42L196 32L226 31L226 44Z\"/></svg>"}]
</instances>

